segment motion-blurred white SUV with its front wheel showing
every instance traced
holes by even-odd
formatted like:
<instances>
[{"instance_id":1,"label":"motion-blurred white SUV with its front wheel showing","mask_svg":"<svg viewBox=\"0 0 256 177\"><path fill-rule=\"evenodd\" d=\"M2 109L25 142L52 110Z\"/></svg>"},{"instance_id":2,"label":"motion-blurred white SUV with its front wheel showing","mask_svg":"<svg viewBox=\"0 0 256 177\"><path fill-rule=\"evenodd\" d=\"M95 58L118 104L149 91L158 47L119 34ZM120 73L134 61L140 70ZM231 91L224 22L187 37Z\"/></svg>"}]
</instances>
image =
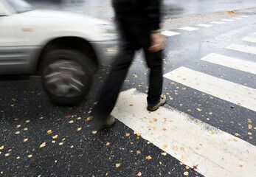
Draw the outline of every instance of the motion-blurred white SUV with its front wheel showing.
<instances>
[{"instance_id":1,"label":"motion-blurred white SUV with its front wheel showing","mask_svg":"<svg viewBox=\"0 0 256 177\"><path fill-rule=\"evenodd\" d=\"M40 73L55 103L79 103L97 67L110 64L116 52L117 33L108 21L0 0L0 74Z\"/></svg>"}]
</instances>

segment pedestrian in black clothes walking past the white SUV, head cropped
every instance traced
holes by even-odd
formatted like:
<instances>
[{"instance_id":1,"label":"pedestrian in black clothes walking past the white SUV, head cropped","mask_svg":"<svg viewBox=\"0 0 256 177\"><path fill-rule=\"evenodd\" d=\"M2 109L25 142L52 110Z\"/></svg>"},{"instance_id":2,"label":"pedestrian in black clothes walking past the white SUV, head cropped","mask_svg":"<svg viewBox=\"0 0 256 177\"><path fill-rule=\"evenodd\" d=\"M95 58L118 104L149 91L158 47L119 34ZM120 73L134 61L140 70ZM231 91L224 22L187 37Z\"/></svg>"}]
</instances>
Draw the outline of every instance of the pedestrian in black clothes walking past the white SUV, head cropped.
<instances>
[{"instance_id":1,"label":"pedestrian in black clothes walking past the white SUV, head cropped","mask_svg":"<svg viewBox=\"0 0 256 177\"><path fill-rule=\"evenodd\" d=\"M162 94L162 49L164 38L159 32L162 0L112 0L115 20L121 35L120 53L112 64L111 72L93 110L93 117L103 126L114 124L111 111L116 104L122 83L131 66L136 50L143 49L150 69L148 111L165 105Z\"/></svg>"}]
</instances>

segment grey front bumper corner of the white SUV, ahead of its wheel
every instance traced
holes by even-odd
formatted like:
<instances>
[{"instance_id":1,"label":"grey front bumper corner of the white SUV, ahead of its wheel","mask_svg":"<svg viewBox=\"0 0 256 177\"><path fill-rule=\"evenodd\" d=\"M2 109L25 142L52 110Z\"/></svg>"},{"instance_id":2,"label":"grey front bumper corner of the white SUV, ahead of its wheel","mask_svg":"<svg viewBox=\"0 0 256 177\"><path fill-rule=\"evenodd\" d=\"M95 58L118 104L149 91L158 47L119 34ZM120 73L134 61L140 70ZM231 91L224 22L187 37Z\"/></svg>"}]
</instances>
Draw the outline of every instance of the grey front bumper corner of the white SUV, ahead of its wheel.
<instances>
[{"instance_id":1,"label":"grey front bumper corner of the white SUV, ahead of its wheel","mask_svg":"<svg viewBox=\"0 0 256 177\"><path fill-rule=\"evenodd\" d=\"M109 66L118 52L118 40L91 41L100 66Z\"/></svg>"}]
</instances>

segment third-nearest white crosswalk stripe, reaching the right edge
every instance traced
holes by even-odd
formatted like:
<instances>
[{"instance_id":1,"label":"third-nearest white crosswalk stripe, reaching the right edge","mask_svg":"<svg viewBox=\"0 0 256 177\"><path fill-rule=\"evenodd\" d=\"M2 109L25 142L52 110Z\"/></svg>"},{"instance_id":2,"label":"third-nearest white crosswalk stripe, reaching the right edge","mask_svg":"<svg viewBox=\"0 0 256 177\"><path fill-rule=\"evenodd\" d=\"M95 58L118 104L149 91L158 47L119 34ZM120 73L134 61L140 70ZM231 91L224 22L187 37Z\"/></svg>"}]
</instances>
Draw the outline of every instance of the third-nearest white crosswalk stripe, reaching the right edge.
<instances>
[{"instance_id":1,"label":"third-nearest white crosswalk stripe, reaching the right edge","mask_svg":"<svg viewBox=\"0 0 256 177\"><path fill-rule=\"evenodd\" d=\"M238 58L230 58L225 55L219 55L215 53L211 53L210 55L201 58L201 60L205 60L210 63L215 63L218 65L226 66L232 69L238 69L243 72L249 72L252 74L256 74L256 63L241 60Z\"/></svg>"}]
</instances>

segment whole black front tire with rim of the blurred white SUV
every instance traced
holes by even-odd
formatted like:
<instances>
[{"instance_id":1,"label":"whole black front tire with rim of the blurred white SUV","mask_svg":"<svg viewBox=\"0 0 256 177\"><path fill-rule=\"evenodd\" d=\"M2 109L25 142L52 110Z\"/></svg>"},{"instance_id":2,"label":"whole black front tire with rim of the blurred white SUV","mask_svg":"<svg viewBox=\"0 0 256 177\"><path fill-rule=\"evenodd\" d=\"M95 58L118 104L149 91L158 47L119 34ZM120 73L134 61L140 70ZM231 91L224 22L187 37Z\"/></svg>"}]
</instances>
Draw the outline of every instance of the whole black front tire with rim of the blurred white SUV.
<instances>
[{"instance_id":1,"label":"whole black front tire with rim of the blurred white SUV","mask_svg":"<svg viewBox=\"0 0 256 177\"><path fill-rule=\"evenodd\" d=\"M82 52L54 49L42 58L41 80L54 103L77 105L91 88L94 70L94 63Z\"/></svg>"}]
</instances>

